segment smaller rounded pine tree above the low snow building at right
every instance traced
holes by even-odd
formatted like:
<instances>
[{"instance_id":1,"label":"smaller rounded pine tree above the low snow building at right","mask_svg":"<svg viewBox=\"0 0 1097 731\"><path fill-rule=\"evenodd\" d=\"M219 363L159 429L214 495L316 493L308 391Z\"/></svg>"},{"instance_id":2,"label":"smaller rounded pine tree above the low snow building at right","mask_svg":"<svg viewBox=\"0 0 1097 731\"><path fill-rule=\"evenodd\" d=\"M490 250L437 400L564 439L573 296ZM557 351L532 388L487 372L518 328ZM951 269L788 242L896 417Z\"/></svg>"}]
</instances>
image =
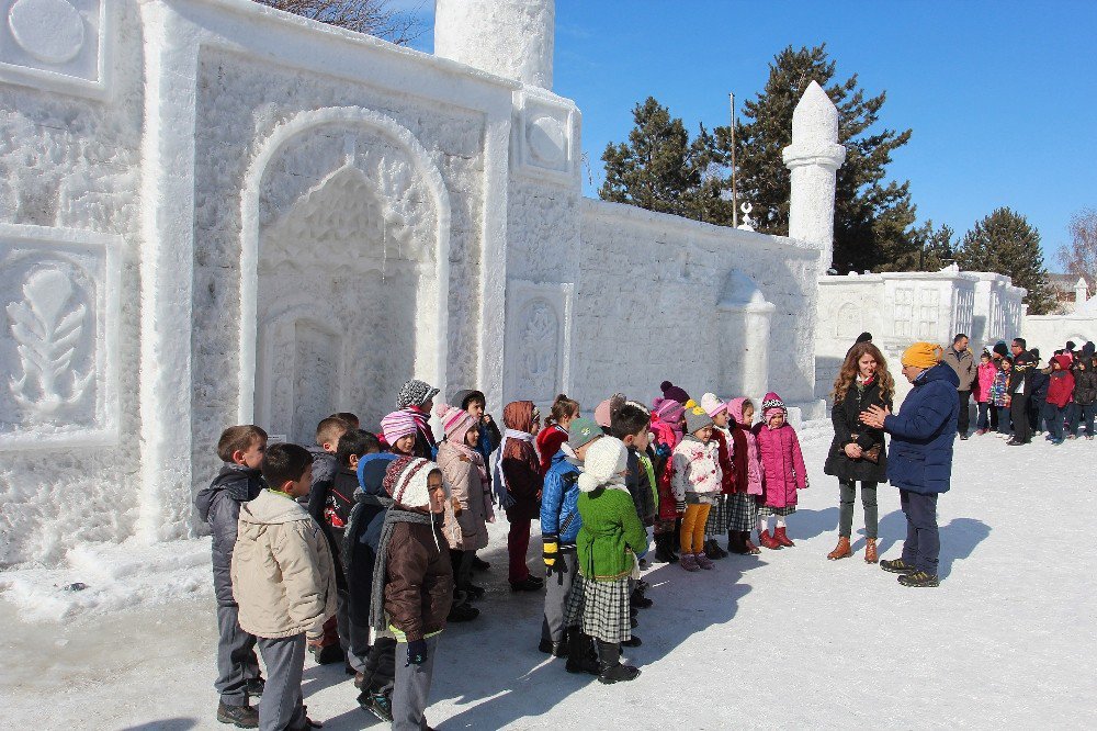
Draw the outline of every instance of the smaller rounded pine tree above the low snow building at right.
<instances>
[{"instance_id":1,"label":"smaller rounded pine tree above the low snow building at right","mask_svg":"<svg viewBox=\"0 0 1097 731\"><path fill-rule=\"evenodd\" d=\"M1045 315L1055 305L1040 250L1040 233L1007 207L997 209L964 234L957 251L964 271L996 271L1028 290L1029 314Z\"/></svg>"}]
</instances>

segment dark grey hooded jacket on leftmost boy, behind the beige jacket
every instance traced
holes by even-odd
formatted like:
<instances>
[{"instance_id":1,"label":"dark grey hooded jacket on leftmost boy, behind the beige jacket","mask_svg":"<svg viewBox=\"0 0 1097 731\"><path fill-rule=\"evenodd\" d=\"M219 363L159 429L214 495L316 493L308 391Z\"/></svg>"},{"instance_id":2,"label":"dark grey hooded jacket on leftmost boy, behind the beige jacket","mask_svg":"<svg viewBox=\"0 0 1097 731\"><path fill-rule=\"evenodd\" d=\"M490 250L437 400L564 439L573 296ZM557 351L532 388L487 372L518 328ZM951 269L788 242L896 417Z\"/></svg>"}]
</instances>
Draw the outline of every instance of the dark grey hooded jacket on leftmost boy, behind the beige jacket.
<instances>
[{"instance_id":1,"label":"dark grey hooded jacket on leftmost boy, behind the beige jacket","mask_svg":"<svg viewBox=\"0 0 1097 731\"><path fill-rule=\"evenodd\" d=\"M222 607L236 606L231 572L240 505L255 499L264 486L259 470L226 462L210 486L194 496L199 517L213 530L213 588Z\"/></svg>"}]
</instances>

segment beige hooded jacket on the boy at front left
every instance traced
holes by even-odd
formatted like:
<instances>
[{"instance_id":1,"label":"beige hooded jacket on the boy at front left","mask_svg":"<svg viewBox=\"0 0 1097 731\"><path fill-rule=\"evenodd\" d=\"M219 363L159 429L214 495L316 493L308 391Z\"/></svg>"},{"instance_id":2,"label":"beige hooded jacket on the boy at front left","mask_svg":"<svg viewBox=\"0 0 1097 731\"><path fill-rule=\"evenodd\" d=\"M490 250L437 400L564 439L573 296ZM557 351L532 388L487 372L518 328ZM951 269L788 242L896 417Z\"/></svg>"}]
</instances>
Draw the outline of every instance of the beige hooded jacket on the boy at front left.
<instances>
[{"instance_id":1,"label":"beige hooded jacket on the boy at front left","mask_svg":"<svg viewBox=\"0 0 1097 731\"><path fill-rule=\"evenodd\" d=\"M233 553L240 627L262 638L318 634L336 614L336 572L319 524L270 490L240 508Z\"/></svg>"}]
</instances>

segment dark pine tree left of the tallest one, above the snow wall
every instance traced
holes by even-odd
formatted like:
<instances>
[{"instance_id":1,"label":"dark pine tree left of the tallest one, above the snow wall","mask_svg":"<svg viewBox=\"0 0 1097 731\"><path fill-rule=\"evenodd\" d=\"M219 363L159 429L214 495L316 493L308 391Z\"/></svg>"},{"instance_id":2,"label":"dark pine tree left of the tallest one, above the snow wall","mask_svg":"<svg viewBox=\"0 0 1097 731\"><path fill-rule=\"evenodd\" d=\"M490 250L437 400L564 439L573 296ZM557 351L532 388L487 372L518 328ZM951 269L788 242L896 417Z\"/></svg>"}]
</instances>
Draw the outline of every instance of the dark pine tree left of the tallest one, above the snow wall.
<instances>
[{"instance_id":1,"label":"dark pine tree left of the tallest one, above the snow wall","mask_svg":"<svg viewBox=\"0 0 1097 731\"><path fill-rule=\"evenodd\" d=\"M632 116L629 143L610 143L602 153L602 200L710 222L721 217L722 207L730 211L712 173L719 155L704 125L691 140L681 119L652 97L636 104Z\"/></svg>"}]
</instances>

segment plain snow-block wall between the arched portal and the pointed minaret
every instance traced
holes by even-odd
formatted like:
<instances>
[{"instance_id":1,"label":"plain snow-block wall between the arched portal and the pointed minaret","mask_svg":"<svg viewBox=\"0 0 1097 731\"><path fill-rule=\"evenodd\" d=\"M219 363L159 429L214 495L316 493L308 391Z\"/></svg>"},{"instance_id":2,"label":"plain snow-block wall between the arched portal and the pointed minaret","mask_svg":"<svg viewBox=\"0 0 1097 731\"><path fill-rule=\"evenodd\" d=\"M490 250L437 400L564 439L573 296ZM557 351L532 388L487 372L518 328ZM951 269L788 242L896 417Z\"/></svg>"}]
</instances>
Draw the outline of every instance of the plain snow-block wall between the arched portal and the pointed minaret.
<instances>
[{"instance_id":1,"label":"plain snow-block wall between the arched portal and the pointed minaret","mask_svg":"<svg viewBox=\"0 0 1097 731\"><path fill-rule=\"evenodd\" d=\"M817 250L635 206L581 207L572 349L585 409L614 391L649 402L670 379L695 397L773 390L805 417L822 415L812 360ZM756 337L759 318L768 337ZM748 344L766 352L744 363Z\"/></svg>"}]
</instances>

